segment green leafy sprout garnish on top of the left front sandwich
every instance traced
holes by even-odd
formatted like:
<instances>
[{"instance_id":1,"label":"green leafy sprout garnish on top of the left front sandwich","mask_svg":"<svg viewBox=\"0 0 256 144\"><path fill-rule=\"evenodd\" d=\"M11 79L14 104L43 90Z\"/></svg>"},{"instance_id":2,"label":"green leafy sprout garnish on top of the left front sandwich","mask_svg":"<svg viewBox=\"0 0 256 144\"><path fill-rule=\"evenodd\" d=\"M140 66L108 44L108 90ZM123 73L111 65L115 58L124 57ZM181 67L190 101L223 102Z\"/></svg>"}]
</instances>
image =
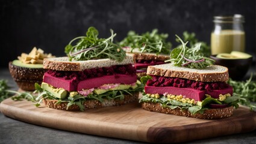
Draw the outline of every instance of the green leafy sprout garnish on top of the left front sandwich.
<instances>
[{"instance_id":1,"label":"green leafy sprout garnish on top of the left front sandwich","mask_svg":"<svg viewBox=\"0 0 256 144\"><path fill-rule=\"evenodd\" d=\"M99 32L96 28L90 27L86 36L76 37L67 44L65 53L70 61L86 61L90 59L110 58L116 61L125 59L125 51L119 45L113 43L116 34L110 29L111 36L98 38ZM75 45L75 41L78 41Z\"/></svg>"}]
</instances>

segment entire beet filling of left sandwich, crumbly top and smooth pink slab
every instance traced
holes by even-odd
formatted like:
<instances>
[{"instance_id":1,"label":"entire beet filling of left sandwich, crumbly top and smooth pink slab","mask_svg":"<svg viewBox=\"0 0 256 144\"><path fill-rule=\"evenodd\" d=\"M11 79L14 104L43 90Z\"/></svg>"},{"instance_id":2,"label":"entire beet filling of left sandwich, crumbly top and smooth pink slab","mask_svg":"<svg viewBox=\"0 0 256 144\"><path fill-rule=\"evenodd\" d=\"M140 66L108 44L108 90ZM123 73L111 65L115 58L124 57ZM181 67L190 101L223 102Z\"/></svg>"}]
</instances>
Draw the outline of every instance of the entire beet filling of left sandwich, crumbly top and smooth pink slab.
<instances>
[{"instance_id":1,"label":"entire beet filling of left sandwich, crumbly top and smooth pink slab","mask_svg":"<svg viewBox=\"0 0 256 144\"><path fill-rule=\"evenodd\" d=\"M43 82L67 91L97 88L106 83L136 82L136 69L131 65L114 65L112 67L92 68L84 71L48 70Z\"/></svg>"}]
</instances>

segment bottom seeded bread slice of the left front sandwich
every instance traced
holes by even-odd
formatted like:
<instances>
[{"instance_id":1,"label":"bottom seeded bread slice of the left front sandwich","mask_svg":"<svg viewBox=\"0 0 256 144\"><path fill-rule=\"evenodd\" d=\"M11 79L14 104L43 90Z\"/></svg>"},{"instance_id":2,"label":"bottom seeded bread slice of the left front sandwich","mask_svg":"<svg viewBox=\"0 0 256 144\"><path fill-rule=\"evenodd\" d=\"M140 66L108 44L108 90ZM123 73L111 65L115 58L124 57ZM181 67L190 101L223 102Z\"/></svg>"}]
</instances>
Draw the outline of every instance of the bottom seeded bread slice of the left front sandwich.
<instances>
[{"instance_id":1,"label":"bottom seeded bread slice of the left front sandwich","mask_svg":"<svg viewBox=\"0 0 256 144\"><path fill-rule=\"evenodd\" d=\"M138 97L139 97L139 92L136 92L133 95L125 95L123 100L120 100L119 98L117 98L115 100L104 100L102 103L98 100L87 100L84 102L84 107L85 107L85 110L87 110L87 109L96 109L96 108L102 108L102 107L108 107L108 106L121 106L123 104L137 101ZM56 104L57 102L58 100L43 99L43 103L45 103L46 106L53 109L80 110L76 104L69 106L69 108L67 109L67 102Z\"/></svg>"}]
</instances>

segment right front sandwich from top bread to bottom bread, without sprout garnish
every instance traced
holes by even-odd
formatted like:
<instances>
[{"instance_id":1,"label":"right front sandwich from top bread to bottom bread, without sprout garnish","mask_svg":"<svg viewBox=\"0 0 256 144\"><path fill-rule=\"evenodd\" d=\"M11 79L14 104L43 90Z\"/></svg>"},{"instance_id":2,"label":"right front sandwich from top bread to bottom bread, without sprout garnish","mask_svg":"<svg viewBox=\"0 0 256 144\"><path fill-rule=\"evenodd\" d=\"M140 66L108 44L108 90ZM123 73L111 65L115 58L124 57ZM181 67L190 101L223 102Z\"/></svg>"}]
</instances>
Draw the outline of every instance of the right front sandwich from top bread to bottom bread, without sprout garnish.
<instances>
[{"instance_id":1,"label":"right front sandwich from top bread to bottom bread, without sprout garnish","mask_svg":"<svg viewBox=\"0 0 256 144\"><path fill-rule=\"evenodd\" d=\"M140 99L145 110L201 119L221 119L233 115L238 100L226 81L228 68L210 65L196 69L173 64L149 66L142 77L145 94Z\"/></svg>"}]
</instances>

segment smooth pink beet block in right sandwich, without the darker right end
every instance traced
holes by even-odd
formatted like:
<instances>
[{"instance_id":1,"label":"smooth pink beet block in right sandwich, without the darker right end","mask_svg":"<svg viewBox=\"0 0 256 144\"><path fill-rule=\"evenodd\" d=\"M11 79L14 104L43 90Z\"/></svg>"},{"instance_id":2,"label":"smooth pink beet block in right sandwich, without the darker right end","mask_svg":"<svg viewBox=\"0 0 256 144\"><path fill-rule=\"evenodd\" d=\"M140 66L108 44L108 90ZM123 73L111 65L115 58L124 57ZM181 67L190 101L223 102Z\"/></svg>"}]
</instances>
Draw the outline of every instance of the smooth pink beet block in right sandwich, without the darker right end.
<instances>
[{"instance_id":1,"label":"smooth pink beet block in right sandwich, without the darker right end","mask_svg":"<svg viewBox=\"0 0 256 144\"><path fill-rule=\"evenodd\" d=\"M199 91L192 88L176 88L173 86L155 87L145 86L146 94L173 94L183 95L186 98L192 98L194 100L202 101L205 99L205 91Z\"/></svg>"}]
</instances>

